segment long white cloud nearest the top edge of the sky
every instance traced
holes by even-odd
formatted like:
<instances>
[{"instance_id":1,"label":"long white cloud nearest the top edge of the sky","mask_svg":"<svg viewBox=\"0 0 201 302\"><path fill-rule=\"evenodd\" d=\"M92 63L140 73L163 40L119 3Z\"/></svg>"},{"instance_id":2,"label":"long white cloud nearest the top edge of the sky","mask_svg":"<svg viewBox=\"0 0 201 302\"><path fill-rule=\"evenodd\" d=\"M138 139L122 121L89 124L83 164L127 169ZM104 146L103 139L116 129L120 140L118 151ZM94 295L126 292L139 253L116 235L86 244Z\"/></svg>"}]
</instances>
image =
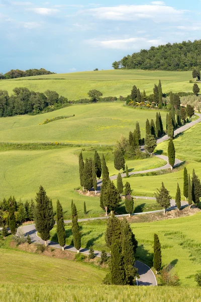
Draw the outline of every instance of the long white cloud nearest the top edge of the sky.
<instances>
[{"instance_id":1,"label":"long white cloud nearest the top edge of the sky","mask_svg":"<svg viewBox=\"0 0 201 302\"><path fill-rule=\"evenodd\" d=\"M176 10L165 5L120 5L116 7L101 7L86 11L97 19L115 21L134 21L152 19L155 22L177 21L184 14L183 10Z\"/></svg>"}]
</instances>

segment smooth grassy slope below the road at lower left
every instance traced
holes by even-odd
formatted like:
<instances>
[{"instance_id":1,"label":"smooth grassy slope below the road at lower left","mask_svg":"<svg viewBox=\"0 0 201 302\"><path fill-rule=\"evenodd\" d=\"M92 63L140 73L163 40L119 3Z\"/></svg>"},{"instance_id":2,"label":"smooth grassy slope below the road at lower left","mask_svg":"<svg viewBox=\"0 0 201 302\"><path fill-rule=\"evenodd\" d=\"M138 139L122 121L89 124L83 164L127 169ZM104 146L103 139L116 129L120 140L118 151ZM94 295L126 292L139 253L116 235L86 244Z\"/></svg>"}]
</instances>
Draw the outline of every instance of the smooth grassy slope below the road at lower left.
<instances>
[{"instance_id":1,"label":"smooth grassy slope below the road at lower left","mask_svg":"<svg viewBox=\"0 0 201 302\"><path fill-rule=\"evenodd\" d=\"M4 283L79 285L87 284L91 278L90 282L100 284L106 275L104 270L90 265L16 250L0 249L0 257L1 282Z\"/></svg>"}]
</instances>

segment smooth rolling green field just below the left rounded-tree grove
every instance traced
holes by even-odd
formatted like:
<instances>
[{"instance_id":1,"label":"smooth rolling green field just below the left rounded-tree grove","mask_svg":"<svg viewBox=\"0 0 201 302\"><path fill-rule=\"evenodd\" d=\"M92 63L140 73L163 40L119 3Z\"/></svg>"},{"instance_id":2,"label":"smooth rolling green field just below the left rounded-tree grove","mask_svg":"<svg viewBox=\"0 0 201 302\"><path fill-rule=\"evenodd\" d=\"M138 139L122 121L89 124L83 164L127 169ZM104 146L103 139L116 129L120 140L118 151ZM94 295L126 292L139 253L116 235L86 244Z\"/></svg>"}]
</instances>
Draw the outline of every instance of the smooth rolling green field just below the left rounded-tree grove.
<instances>
[{"instance_id":1,"label":"smooth rolling green field just below the left rounded-tree grove","mask_svg":"<svg viewBox=\"0 0 201 302\"><path fill-rule=\"evenodd\" d=\"M73 114L39 125L47 118ZM42 115L0 118L0 142L114 144L121 134L128 137L129 131L134 131L136 121L145 136L146 119L155 117L155 110L134 110L122 103L74 105ZM161 117L165 125L166 112L162 111Z\"/></svg>"}]
</instances>

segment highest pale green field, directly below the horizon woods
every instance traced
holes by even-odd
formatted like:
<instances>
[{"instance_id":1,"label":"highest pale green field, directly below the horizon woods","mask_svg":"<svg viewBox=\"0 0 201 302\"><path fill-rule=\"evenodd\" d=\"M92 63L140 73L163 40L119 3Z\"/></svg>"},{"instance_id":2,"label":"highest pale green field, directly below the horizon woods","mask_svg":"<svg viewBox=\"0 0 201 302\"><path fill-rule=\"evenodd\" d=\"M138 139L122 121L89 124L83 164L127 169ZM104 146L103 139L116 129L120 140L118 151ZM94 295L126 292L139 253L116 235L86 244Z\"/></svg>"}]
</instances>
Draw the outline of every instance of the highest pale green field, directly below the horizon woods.
<instances>
[{"instance_id":1,"label":"highest pale green field, directly below the horizon woods","mask_svg":"<svg viewBox=\"0 0 201 302\"><path fill-rule=\"evenodd\" d=\"M0 89L7 90L10 94L15 87L27 87L40 92L50 89L69 100L78 100L87 98L88 91L92 89L101 91L104 97L127 96L134 85L142 91L145 89L149 95L153 93L154 84L158 84L159 80L162 82L163 92L191 92L191 78L191 71L103 70L2 80Z\"/></svg>"}]
</instances>

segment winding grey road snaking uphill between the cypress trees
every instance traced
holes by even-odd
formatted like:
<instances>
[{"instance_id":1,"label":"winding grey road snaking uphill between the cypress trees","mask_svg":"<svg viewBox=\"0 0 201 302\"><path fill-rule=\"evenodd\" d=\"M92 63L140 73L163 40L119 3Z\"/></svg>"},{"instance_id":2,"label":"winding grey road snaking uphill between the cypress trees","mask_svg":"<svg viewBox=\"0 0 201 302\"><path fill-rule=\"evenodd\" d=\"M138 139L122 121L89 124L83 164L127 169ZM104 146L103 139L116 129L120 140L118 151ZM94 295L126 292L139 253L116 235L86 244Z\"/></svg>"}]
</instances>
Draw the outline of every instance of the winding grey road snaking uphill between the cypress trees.
<instances>
[{"instance_id":1,"label":"winding grey road snaking uphill between the cypress trees","mask_svg":"<svg viewBox=\"0 0 201 302\"><path fill-rule=\"evenodd\" d=\"M176 129L174 131L174 135L178 135L181 132L187 130L188 128L190 128L190 127L196 125L197 123L201 122L201 114L198 114L198 113L195 113L195 114L198 116L198 119L196 119L196 120L194 120L194 121L192 121L188 124L185 124L184 126L178 128L178 129ZM168 136L165 135L165 136L163 136L163 137L161 137L157 140L157 144L160 143L160 142L163 142L167 139L168 139ZM143 150L144 146L142 146L141 149ZM149 173L149 172L160 171L160 170L171 168L171 166L168 163L168 157L167 156L158 155L158 154L154 154L154 156L156 156L156 157L158 157L162 160L165 160L167 162L167 164L165 166L155 168L155 169L131 172L131 173L129 173L129 175ZM178 166L180 163L181 163L180 160L175 159L174 167ZM122 177L126 177L126 174L122 174ZM110 178L111 178L111 180L115 180L115 179L117 179L117 175L111 176ZM98 180L97 185L100 189L100 186L102 185L102 180ZM140 198L140 199L155 199L154 197L143 197L143 196L133 196L133 197L134 198ZM185 201L182 201L181 205L182 205L182 207L185 207L185 206L187 206L187 203ZM167 211L172 210L172 209L175 209L175 200L174 199L171 200L171 207L169 209L167 209ZM147 213L154 213L154 212L160 212L160 211L163 211L163 210L152 211L152 212L147 212ZM146 213L145 212L135 213L133 215L141 215L141 214L146 214ZM127 216L127 215L117 215L117 216ZM105 216L104 217L94 217L94 218L78 219L78 221L81 222L81 221L87 221L87 220L106 219L106 218L107 217L105 217ZM69 223L69 222L71 222L71 220L65 220L64 222ZM20 233L20 230L25 234L25 236L27 236L29 234L30 237L31 237L32 242L44 244L44 241L40 237L37 236L37 231L36 231L36 228L35 228L34 224L21 226L20 228L18 228L17 232ZM55 242L52 242L52 241L48 241L48 246L52 246L54 248L62 249L61 246L58 243L55 243ZM76 249L73 246L65 246L65 250L76 252ZM88 251L89 251L88 249L83 249L83 248L80 249L80 252L84 253L84 254L88 254ZM100 257L100 252L99 251L94 251L94 253L96 254L97 257ZM153 285L153 286L157 285L155 275L154 275L153 271L150 269L150 267L148 267L146 264L144 264L140 261L136 261L135 265L138 268L138 273L139 273L139 276L140 276L140 279L137 280L138 285Z\"/></svg>"}]
</instances>

